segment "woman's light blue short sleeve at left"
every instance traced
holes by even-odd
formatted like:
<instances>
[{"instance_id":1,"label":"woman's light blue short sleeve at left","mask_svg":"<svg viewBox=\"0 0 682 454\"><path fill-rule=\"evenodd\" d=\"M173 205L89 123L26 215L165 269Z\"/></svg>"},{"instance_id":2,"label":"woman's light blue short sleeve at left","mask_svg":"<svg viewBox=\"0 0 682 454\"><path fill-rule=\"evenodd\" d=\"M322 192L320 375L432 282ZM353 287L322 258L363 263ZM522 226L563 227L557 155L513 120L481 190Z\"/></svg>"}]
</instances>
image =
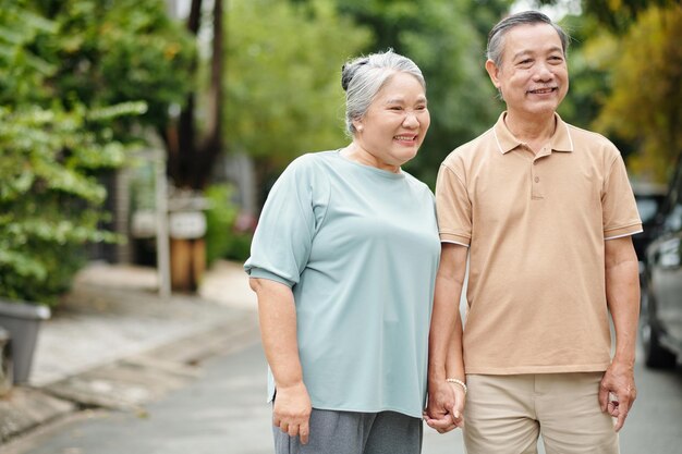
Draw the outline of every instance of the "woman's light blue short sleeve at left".
<instances>
[{"instance_id":1,"label":"woman's light blue short sleeve at left","mask_svg":"<svg viewBox=\"0 0 682 454\"><path fill-rule=\"evenodd\" d=\"M328 180L314 161L314 155L294 160L268 194L244 263L249 277L299 283L329 198Z\"/></svg>"}]
</instances>

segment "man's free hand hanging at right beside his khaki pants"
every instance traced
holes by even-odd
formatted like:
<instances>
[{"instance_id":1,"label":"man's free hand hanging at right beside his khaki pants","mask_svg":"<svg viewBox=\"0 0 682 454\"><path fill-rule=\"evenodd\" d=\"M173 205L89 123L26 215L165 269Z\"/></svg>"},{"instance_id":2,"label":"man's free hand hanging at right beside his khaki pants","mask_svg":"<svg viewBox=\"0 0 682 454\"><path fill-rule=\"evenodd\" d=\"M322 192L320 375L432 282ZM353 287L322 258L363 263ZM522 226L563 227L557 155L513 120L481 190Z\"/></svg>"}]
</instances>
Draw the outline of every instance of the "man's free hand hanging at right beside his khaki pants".
<instances>
[{"instance_id":1,"label":"man's free hand hanging at right beside his khaki pants","mask_svg":"<svg viewBox=\"0 0 682 454\"><path fill-rule=\"evenodd\" d=\"M634 370L632 365L613 361L604 373L599 385L599 405L614 418L618 432L625 424L625 418L637 397Z\"/></svg>"}]
</instances>

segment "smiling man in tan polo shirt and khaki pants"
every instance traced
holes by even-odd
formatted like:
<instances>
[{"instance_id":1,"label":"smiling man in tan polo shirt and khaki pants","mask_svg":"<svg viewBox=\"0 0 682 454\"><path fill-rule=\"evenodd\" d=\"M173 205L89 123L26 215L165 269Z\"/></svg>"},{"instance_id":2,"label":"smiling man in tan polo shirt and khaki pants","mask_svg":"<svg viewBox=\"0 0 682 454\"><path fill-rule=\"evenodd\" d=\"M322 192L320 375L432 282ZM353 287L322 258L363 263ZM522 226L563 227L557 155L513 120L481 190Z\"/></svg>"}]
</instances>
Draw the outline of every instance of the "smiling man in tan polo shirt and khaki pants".
<instances>
[{"instance_id":1,"label":"smiling man in tan polo shirt and khaki pants","mask_svg":"<svg viewBox=\"0 0 682 454\"><path fill-rule=\"evenodd\" d=\"M568 45L538 12L498 23L486 70L507 111L439 171L425 419L463 426L468 454L536 453L540 433L548 454L618 453L635 400L642 222L618 149L556 113Z\"/></svg>"}]
</instances>

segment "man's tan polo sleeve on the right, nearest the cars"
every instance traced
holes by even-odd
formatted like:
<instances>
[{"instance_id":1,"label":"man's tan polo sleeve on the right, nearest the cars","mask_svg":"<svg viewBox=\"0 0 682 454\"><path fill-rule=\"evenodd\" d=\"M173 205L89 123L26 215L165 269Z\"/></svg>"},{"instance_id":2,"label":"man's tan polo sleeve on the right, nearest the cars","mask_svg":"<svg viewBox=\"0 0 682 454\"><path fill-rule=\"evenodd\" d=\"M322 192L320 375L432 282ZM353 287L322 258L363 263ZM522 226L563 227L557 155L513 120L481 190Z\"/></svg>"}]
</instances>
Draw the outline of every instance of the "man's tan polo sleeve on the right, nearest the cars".
<instances>
[{"instance_id":1,"label":"man's tan polo sleeve on the right, nearest the cars","mask_svg":"<svg viewBox=\"0 0 682 454\"><path fill-rule=\"evenodd\" d=\"M605 240L642 232L642 220L628 179L625 163L618 150L606 176L601 195Z\"/></svg>"}]
</instances>

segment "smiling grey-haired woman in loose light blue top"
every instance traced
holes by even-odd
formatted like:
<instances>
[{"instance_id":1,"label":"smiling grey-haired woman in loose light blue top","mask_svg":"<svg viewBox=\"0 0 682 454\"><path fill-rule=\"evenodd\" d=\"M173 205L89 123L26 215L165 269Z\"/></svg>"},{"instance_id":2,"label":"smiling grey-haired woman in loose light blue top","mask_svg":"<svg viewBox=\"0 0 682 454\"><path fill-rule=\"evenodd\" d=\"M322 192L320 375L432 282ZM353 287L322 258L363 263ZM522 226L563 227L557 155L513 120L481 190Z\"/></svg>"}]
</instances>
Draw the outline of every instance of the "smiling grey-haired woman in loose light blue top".
<instances>
[{"instance_id":1,"label":"smiling grey-haired woman in loose light blue top","mask_svg":"<svg viewBox=\"0 0 682 454\"><path fill-rule=\"evenodd\" d=\"M258 296L277 453L418 453L440 242L434 196L401 165L430 118L419 69L346 63L344 148L277 181L244 268Z\"/></svg>"}]
</instances>

